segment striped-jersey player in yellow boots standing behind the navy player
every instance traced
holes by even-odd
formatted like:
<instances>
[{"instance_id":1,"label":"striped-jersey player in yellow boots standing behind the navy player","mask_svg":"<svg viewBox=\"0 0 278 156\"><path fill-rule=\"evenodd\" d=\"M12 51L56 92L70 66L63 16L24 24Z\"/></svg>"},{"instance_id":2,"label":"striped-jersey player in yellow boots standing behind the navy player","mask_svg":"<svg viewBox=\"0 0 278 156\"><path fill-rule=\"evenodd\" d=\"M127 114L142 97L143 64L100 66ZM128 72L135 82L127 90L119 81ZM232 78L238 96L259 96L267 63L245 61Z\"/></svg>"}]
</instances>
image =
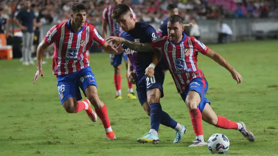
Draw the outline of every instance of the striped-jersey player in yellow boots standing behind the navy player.
<instances>
[{"instance_id":1,"label":"striped-jersey player in yellow boots standing behind the navy player","mask_svg":"<svg viewBox=\"0 0 278 156\"><path fill-rule=\"evenodd\" d=\"M110 31L110 36L117 36L119 37L120 34L123 32L123 30L120 28L120 26L116 23L116 21L112 18L112 11L114 7L116 7L118 4L121 4L123 0L113 0L114 5L107 6L103 10L102 14L102 37L106 38L107 37L107 25L109 27ZM133 10L130 8L132 14L133 14L133 19L136 20L136 15L134 14ZM111 43L113 45L114 43ZM128 63L127 63L127 56L125 53L121 53L118 55L110 55L110 62L111 65L114 67L114 84L116 88L116 97L115 100L122 100L122 92L121 92L121 81L122 81L122 76L121 76L121 64L122 64L122 57L124 58L124 62L126 65L126 68L128 68ZM126 74L127 77L127 74ZM127 78L128 81L128 78ZM130 99L137 99L136 96L133 93L133 84L131 84L128 81L128 98Z\"/></svg>"}]
</instances>

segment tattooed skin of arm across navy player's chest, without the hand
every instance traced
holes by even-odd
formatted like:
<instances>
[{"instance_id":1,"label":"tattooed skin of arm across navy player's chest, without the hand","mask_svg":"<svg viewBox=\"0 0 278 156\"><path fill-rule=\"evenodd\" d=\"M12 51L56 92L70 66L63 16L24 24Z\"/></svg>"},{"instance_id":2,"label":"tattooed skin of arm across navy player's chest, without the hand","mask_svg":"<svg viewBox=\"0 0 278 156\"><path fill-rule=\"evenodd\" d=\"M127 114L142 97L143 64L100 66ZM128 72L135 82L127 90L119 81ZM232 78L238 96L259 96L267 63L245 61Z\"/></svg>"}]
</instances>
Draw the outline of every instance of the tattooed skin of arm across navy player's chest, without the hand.
<instances>
[{"instance_id":1,"label":"tattooed skin of arm across navy player's chest, without the hand","mask_svg":"<svg viewBox=\"0 0 278 156\"><path fill-rule=\"evenodd\" d=\"M137 43L137 42L128 41L126 39L124 40L123 43L131 50L137 52L154 52L154 49L151 47L150 43Z\"/></svg>"}]
</instances>

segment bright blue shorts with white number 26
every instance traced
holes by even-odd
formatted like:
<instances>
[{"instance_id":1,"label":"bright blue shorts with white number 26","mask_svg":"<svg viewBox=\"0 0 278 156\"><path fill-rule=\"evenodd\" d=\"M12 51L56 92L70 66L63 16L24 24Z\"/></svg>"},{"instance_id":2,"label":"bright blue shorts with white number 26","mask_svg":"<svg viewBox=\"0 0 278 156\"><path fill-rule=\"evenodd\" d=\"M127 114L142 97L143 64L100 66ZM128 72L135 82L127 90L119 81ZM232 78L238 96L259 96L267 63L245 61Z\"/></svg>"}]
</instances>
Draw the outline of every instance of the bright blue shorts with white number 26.
<instances>
[{"instance_id":1,"label":"bright blue shorts with white number 26","mask_svg":"<svg viewBox=\"0 0 278 156\"><path fill-rule=\"evenodd\" d=\"M85 67L68 75L58 75L57 87L61 104L70 97L75 97L77 101L81 100L82 96L79 87L86 96L85 89L90 85L97 87L95 74L91 72L91 67Z\"/></svg>"}]
</instances>

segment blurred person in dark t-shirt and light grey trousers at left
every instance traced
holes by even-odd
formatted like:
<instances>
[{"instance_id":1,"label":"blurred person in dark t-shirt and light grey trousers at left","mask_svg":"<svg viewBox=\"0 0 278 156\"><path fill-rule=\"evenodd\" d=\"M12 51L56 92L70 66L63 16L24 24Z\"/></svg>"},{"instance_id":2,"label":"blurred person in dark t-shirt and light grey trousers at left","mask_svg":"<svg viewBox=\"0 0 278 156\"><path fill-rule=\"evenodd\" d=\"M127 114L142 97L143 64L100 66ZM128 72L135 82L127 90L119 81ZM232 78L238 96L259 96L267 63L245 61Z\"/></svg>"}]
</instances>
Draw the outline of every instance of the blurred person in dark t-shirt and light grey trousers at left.
<instances>
[{"instance_id":1,"label":"blurred person in dark t-shirt and light grey trousers at left","mask_svg":"<svg viewBox=\"0 0 278 156\"><path fill-rule=\"evenodd\" d=\"M34 30L36 29L36 16L31 9L29 0L24 2L25 7L15 17L15 23L21 28L22 36L22 58L23 65L34 64L32 59L32 46L34 41Z\"/></svg>"}]
</instances>

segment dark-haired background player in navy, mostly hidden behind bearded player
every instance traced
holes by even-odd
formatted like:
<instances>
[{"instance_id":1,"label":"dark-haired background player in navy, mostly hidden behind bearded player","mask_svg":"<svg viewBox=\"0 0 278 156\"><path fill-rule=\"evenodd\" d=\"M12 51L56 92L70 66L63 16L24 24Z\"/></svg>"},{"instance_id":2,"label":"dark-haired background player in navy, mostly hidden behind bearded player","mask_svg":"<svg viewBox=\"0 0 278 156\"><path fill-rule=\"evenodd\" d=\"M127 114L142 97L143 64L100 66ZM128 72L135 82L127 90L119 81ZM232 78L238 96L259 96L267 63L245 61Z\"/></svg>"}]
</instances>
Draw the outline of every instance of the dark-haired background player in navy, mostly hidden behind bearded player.
<instances>
[{"instance_id":1,"label":"dark-haired background player in navy, mostly hidden behind bearded player","mask_svg":"<svg viewBox=\"0 0 278 156\"><path fill-rule=\"evenodd\" d=\"M167 36L167 20L170 16L174 15L174 14L179 14L179 10L178 7L175 4L169 4L167 6L167 17L161 22L161 25L158 29L158 31L156 31L159 35L159 37L163 37L163 36ZM185 27L192 27L193 23L189 23L189 24L183 24ZM162 59L163 61L164 59ZM165 63L163 63L163 69L164 69L164 74L166 74L166 72L168 71L168 67Z\"/></svg>"}]
</instances>

